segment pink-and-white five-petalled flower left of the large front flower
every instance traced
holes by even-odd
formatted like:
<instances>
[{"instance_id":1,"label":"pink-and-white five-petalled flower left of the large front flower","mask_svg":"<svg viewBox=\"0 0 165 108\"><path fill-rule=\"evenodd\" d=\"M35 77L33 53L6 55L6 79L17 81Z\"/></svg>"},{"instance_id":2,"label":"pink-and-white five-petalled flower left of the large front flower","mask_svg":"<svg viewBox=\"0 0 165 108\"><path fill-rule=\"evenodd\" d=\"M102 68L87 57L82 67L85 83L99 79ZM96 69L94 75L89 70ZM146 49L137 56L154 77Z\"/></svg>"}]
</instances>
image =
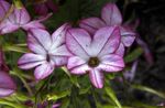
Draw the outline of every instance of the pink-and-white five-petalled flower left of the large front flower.
<instances>
[{"instance_id":1,"label":"pink-and-white five-petalled flower left of the large front flower","mask_svg":"<svg viewBox=\"0 0 165 108\"><path fill-rule=\"evenodd\" d=\"M36 79L43 79L53 73L55 66L67 63L70 53L65 46L65 33L70 28L64 24L51 36L46 30L35 29L28 34L28 45L32 53L24 54L18 62L22 69L36 67Z\"/></svg>"}]
</instances>

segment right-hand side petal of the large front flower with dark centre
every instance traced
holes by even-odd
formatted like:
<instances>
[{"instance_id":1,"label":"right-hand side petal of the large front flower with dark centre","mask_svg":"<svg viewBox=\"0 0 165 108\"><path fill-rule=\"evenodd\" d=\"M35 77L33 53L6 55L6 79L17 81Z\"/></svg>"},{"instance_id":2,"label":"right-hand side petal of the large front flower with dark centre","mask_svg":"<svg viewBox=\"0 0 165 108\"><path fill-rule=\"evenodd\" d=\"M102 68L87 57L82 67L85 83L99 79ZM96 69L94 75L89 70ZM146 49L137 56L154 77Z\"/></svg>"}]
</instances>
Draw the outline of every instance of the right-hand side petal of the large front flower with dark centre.
<instances>
[{"instance_id":1,"label":"right-hand side petal of the large front flower with dark centre","mask_svg":"<svg viewBox=\"0 0 165 108\"><path fill-rule=\"evenodd\" d=\"M101 63L98 68L106 72L119 72L123 69L123 58L117 54L105 55L100 58Z\"/></svg>"}]
</instances>

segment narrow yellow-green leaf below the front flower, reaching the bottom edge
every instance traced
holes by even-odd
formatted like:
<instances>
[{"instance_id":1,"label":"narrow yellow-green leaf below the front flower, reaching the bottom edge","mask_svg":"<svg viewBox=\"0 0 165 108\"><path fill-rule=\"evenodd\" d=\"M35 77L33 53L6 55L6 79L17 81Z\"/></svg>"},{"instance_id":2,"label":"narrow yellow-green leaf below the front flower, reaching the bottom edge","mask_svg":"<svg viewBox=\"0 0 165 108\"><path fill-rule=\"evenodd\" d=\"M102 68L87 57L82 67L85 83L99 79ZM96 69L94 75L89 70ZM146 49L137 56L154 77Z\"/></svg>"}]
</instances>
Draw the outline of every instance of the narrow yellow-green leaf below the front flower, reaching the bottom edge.
<instances>
[{"instance_id":1,"label":"narrow yellow-green leaf below the front flower, reaching the bottom edge","mask_svg":"<svg viewBox=\"0 0 165 108\"><path fill-rule=\"evenodd\" d=\"M107 95L114 101L114 104L118 106L118 108L122 108L121 104L119 102L114 91L111 89L111 87L106 87Z\"/></svg>"}]
</instances>

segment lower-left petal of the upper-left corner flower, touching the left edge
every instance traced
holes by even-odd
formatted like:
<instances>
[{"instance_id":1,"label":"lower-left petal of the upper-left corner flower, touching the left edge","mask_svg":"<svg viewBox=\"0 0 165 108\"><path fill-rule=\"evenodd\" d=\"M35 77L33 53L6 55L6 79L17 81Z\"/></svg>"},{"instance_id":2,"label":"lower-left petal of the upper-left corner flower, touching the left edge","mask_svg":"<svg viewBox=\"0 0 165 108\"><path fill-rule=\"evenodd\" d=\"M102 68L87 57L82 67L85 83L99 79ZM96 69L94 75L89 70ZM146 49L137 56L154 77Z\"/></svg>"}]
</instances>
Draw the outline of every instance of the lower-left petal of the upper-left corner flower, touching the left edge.
<instances>
[{"instance_id":1,"label":"lower-left petal of the upper-left corner flower, touching the left edge","mask_svg":"<svg viewBox=\"0 0 165 108\"><path fill-rule=\"evenodd\" d=\"M0 34L7 34L7 33L14 32L19 28L20 28L19 25L13 24L8 19L6 19L0 23Z\"/></svg>"}]
</instances>

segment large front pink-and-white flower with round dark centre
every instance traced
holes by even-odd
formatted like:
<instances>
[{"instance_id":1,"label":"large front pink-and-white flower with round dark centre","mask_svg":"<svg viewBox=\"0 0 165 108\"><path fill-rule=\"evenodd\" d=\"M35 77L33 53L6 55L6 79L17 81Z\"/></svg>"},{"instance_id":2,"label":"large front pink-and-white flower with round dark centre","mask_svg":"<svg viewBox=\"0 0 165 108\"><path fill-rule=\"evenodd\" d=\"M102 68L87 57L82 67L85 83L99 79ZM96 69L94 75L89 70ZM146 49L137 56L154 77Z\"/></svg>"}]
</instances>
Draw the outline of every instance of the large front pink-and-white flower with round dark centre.
<instances>
[{"instance_id":1,"label":"large front pink-and-white flower with round dark centre","mask_svg":"<svg viewBox=\"0 0 165 108\"><path fill-rule=\"evenodd\" d=\"M94 37L84 29L69 29L66 46L73 56L68 58L67 68L72 74L88 73L92 85L102 88L102 72L119 72L124 67L123 58L116 54L120 37L116 26L101 28Z\"/></svg>"}]
</instances>

